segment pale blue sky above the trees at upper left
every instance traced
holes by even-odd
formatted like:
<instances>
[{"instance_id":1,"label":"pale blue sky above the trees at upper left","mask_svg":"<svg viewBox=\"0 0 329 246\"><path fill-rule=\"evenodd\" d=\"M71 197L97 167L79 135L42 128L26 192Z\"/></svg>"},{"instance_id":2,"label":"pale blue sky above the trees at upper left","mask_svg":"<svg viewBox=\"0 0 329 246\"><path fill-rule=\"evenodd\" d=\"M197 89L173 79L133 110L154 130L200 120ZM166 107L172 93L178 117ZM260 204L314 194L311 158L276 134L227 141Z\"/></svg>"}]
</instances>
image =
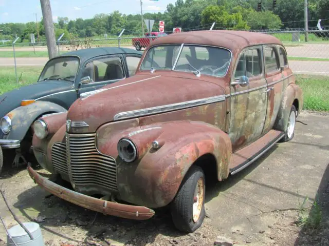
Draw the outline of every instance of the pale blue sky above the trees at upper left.
<instances>
[{"instance_id":1,"label":"pale blue sky above the trees at upper left","mask_svg":"<svg viewBox=\"0 0 329 246\"><path fill-rule=\"evenodd\" d=\"M176 0L142 0L144 12L164 12L167 5ZM92 18L99 13L119 10L123 14L140 13L140 0L50 0L52 18ZM40 0L0 0L0 23L35 22L35 13L41 20Z\"/></svg>"}]
</instances>

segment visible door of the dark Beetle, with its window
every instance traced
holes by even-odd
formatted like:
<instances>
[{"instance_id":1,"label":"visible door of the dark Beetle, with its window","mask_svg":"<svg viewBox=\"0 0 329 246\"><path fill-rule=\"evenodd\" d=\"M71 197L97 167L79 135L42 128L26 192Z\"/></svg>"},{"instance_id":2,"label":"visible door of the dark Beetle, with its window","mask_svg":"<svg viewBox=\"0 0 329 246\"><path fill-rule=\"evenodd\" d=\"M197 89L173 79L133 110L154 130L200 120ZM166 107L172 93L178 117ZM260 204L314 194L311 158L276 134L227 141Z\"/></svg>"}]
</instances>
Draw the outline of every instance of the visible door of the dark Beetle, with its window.
<instances>
[{"instance_id":1,"label":"visible door of the dark Beetle, with its window","mask_svg":"<svg viewBox=\"0 0 329 246\"><path fill-rule=\"evenodd\" d=\"M89 80L89 78L90 80ZM89 61L83 68L79 93L97 90L126 77L121 55L112 55ZM89 81L88 81L89 80Z\"/></svg>"}]
</instances>

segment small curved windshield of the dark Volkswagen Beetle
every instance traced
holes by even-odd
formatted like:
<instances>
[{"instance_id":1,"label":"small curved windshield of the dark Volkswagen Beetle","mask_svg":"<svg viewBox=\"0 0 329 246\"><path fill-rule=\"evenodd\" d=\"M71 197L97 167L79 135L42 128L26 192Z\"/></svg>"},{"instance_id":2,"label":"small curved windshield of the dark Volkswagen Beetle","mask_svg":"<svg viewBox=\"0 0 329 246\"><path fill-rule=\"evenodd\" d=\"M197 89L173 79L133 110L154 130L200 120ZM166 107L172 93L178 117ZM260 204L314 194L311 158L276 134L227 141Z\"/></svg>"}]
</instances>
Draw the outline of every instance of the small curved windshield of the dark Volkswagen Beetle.
<instances>
[{"instance_id":1,"label":"small curved windshield of the dark Volkswagen Beetle","mask_svg":"<svg viewBox=\"0 0 329 246\"><path fill-rule=\"evenodd\" d=\"M79 68L77 57L59 57L50 60L46 65L39 81L48 79L74 81Z\"/></svg>"}]
</instances>

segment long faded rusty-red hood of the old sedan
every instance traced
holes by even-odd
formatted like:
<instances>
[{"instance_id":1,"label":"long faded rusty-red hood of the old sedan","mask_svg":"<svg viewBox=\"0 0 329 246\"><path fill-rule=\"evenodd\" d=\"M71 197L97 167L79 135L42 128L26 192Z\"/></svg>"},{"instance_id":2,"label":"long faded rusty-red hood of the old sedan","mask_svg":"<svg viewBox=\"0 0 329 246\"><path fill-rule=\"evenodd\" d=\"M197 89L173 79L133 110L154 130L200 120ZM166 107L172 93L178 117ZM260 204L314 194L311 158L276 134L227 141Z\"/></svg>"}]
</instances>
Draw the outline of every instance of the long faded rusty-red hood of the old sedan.
<instances>
[{"instance_id":1,"label":"long faded rusty-red hood of the old sedan","mask_svg":"<svg viewBox=\"0 0 329 246\"><path fill-rule=\"evenodd\" d=\"M95 132L122 112L225 94L221 86L202 80L202 77L193 75L193 78L184 78L167 74L138 74L103 87L97 94L76 100L68 110L67 119L84 121L89 125L88 131Z\"/></svg>"}]
</instances>

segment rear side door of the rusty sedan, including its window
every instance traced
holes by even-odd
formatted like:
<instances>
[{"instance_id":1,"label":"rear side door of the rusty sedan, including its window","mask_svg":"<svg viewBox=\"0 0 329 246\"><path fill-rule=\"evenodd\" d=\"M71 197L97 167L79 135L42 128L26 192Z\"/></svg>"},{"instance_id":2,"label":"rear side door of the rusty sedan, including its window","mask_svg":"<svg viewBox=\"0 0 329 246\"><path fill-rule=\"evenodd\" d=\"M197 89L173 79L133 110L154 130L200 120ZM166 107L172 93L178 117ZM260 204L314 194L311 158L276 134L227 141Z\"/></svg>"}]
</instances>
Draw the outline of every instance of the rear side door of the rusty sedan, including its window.
<instances>
[{"instance_id":1,"label":"rear side door of the rusty sedan, including its window","mask_svg":"<svg viewBox=\"0 0 329 246\"><path fill-rule=\"evenodd\" d=\"M285 70L284 63L280 65L277 45L263 46L265 78L267 81L267 113L263 133L272 129L277 118L281 97L283 92L283 73ZM285 51L281 50L281 53ZM286 59L286 57L285 57ZM281 71L282 70L282 71Z\"/></svg>"}]
</instances>

